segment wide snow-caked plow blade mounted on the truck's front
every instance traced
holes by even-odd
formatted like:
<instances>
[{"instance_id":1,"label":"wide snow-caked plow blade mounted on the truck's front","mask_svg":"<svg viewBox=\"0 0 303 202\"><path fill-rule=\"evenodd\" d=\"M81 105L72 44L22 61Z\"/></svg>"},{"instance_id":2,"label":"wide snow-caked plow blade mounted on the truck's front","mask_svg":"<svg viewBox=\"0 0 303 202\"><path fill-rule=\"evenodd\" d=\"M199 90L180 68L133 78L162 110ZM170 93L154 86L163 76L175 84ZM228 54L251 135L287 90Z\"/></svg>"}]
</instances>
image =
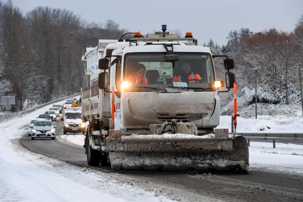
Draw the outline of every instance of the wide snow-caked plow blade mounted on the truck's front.
<instances>
[{"instance_id":1,"label":"wide snow-caked plow blade mounted on the truck's front","mask_svg":"<svg viewBox=\"0 0 303 202\"><path fill-rule=\"evenodd\" d=\"M248 172L248 145L243 136L210 138L188 134L107 138L114 170L218 170Z\"/></svg>"}]
</instances>

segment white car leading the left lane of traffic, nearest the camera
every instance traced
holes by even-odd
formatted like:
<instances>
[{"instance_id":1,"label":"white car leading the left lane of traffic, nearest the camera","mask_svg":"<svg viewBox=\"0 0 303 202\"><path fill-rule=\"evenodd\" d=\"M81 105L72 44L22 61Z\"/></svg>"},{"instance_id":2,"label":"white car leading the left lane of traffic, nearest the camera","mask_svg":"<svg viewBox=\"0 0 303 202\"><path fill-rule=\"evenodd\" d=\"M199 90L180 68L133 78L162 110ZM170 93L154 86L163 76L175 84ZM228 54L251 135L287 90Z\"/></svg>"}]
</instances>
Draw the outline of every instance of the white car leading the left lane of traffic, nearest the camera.
<instances>
[{"instance_id":1,"label":"white car leading the left lane of traffic, nearest the camera","mask_svg":"<svg viewBox=\"0 0 303 202\"><path fill-rule=\"evenodd\" d=\"M31 126L31 139L50 137L56 139L56 131L52 121L35 121L34 125Z\"/></svg>"}]
</instances>

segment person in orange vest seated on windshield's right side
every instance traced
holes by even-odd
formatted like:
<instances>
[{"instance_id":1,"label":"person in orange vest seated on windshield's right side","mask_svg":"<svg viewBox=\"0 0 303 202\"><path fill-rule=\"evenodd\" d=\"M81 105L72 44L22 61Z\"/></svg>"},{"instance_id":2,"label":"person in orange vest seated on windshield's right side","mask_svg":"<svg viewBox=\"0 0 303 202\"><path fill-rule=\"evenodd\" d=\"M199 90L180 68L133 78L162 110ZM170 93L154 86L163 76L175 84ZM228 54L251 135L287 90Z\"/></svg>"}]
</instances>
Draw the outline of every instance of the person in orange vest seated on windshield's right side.
<instances>
[{"instance_id":1,"label":"person in orange vest seated on windshield's right side","mask_svg":"<svg viewBox=\"0 0 303 202\"><path fill-rule=\"evenodd\" d=\"M190 71L191 67L189 63L183 63L181 66L181 72L178 76L173 77L173 82L186 82L186 83L198 83L198 81L191 79L201 80L201 77L198 73L193 73ZM189 81L191 80L191 81Z\"/></svg>"}]
</instances>

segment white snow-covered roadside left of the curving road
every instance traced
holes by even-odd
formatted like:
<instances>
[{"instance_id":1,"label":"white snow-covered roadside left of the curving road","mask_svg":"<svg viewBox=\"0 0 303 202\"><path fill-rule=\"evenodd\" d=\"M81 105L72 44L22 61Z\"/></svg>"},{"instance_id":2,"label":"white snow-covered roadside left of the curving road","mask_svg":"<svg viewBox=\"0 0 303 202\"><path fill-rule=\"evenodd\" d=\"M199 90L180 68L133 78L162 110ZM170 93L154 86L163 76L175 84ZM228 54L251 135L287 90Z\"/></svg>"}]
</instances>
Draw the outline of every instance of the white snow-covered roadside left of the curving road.
<instances>
[{"instance_id":1,"label":"white snow-covered roadside left of the curving road","mask_svg":"<svg viewBox=\"0 0 303 202\"><path fill-rule=\"evenodd\" d=\"M0 124L0 201L171 201L23 148L18 138L50 106Z\"/></svg>"}]
</instances>

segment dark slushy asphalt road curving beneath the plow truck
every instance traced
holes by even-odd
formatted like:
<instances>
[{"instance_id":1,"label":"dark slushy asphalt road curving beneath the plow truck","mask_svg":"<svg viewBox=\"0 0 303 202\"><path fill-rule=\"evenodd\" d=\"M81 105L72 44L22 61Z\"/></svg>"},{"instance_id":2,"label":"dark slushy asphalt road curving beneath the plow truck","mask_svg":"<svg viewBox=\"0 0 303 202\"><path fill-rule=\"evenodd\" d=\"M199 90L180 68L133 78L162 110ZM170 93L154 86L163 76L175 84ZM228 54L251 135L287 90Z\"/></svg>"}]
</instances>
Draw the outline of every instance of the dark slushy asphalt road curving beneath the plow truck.
<instances>
[{"instance_id":1,"label":"dark slushy asphalt road curving beneath the plow truck","mask_svg":"<svg viewBox=\"0 0 303 202\"><path fill-rule=\"evenodd\" d=\"M57 132L62 134L62 123L57 121ZM73 136L73 135L71 135ZM84 148L70 143L69 135L52 140L31 141L28 136L21 143L32 151L86 168ZM74 136L75 137L75 136ZM82 135L77 135L81 144ZM96 173L111 173L121 183L131 183L144 190L154 190L156 195L165 195L188 201L300 201L303 200L302 175L270 172L252 168L248 175L231 173L161 173L161 172L113 172L110 167L93 168Z\"/></svg>"}]
</instances>

